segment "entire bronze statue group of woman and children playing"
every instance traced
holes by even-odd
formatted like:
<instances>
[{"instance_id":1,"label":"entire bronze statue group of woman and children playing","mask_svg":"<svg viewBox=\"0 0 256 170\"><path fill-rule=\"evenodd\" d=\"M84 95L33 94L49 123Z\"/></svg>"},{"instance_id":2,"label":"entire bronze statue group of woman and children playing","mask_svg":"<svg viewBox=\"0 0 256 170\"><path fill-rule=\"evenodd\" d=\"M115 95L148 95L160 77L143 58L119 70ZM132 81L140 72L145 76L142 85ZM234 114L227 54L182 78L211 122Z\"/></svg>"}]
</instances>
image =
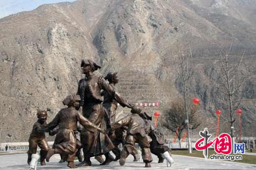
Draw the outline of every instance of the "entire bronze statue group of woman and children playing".
<instances>
[{"instance_id":1,"label":"entire bronze statue group of woman and children playing","mask_svg":"<svg viewBox=\"0 0 256 170\"><path fill-rule=\"evenodd\" d=\"M67 161L70 168L91 166L91 157L95 157L100 165L119 160L122 166L130 154L134 156L134 161L138 161L135 143L141 148L145 167L151 167L151 153L158 156L158 163L164 159L174 163L170 149L164 145L163 134L151 124L152 116L118 94L115 88L118 83L117 73L110 72L104 78L96 71L101 66L90 59L83 59L81 67L85 77L79 81L77 93L68 95L62 101L67 107L61 109L49 124L46 123L47 111L37 112L38 120L29 137L28 164L38 145L41 165L46 165L45 160L49 162L52 155L60 154L60 162ZM118 103L131 108L132 114L116 121ZM78 113L80 107L82 115ZM49 149L45 132L56 134L52 149ZM77 137L79 132L80 141ZM118 148L120 143L123 145L122 151ZM115 154L115 158L110 151ZM81 161L78 165L74 164L76 156Z\"/></svg>"}]
</instances>

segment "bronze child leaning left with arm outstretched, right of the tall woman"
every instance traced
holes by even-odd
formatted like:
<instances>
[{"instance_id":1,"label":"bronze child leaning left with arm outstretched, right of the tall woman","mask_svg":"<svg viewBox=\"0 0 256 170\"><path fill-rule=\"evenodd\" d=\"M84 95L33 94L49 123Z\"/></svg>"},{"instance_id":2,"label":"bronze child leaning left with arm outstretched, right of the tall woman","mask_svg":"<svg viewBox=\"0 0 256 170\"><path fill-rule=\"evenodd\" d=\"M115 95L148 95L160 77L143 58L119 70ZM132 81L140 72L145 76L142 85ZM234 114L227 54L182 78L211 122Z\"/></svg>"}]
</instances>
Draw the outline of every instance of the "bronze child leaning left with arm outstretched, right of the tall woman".
<instances>
[{"instance_id":1,"label":"bronze child leaning left with arm outstretched, right of the tall woman","mask_svg":"<svg viewBox=\"0 0 256 170\"><path fill-rule=\"evenodd\" d=\"M143 162L145 162L145 167L151 167L150 162L152 162L153 159L150 152L150 143L148 143L147 134L145 132L145 122L139 115L144 113L141 113L141 109L135 106L132 107L131 112L133 114L128 115L110 125L110 130L115 130L123 126L128 127L127 136L125 138L125 144L123 146L119 163L121 166L123 166L125 159L135 149L135 143L139 143L139 146L142 149L142 159Z\"/></svg>"}]
</instances>

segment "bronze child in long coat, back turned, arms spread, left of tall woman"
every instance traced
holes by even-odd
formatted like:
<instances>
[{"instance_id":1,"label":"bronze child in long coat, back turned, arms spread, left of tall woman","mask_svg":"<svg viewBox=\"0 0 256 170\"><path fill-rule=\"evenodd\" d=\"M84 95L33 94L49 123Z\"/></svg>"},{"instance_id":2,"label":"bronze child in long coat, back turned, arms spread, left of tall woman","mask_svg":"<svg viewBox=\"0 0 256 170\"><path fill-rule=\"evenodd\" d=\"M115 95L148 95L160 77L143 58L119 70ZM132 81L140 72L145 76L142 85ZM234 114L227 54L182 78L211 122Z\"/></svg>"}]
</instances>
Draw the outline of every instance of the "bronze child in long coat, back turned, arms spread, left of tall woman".
<instances>
[{"instance_id":1,"label":"bronze child in long coat, back turned, arms spread, left of tall woman","mask_svg":"<svg viewBox=\"0 0 256 170\"><path fill-rule=\"evenodd\" d=\"M81 145L74 134L74 131L77 131L77 122L79 122L86 129L90 128L92 133L97 130L103 134L106 134L105 130L98 128L87 118L78 113L76 107L79 106L79 102L79 95L68 95L67 98L62 102L68 107L61 109L54 117L52 122L49 123L49 130L53 130L57 126L59 126L59 130L53 144L53 149L48 152L46 161L49 161L53 154L65 154L68 155L68 167L77 167L74 165L74 158L78 150L77 148L79 145Z\"/></svg>"}]
</instances>

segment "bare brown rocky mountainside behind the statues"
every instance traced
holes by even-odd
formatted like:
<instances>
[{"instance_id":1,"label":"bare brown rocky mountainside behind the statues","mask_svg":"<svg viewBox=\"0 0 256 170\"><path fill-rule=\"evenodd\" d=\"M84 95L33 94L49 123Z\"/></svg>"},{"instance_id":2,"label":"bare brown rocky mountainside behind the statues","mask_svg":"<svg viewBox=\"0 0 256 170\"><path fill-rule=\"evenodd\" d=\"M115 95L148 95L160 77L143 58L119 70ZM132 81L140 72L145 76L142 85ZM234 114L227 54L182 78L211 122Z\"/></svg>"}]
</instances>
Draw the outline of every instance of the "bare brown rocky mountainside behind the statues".
<instances>
[{"instance_id":1,"label":"bare brown rocky mountainside behind the statues","mask_svg":"<svg viewBox=\"0 0 256 170\"><path fill-rule=\"evenodd\" d=\"M38 108L48 108L49 122L64 107L61 101L66 95L76 93L84 57L101 62L102 75L118 72L117 88L124 98L133 103L160 102L160 107L145 110L163 112L181 97L171 60L177 40L193 48L197 71L191 98L200 98L200 114L211 115L207 121L215 121L210 103L215 94L208 79L216 56L199 53L208 45L200 42L219 40L224 31L233 34L249 49L248 60L255 63L255 8L253 0L83 0L42 5L2 18L2 133L26 141ZM255 75L255 67L245 67L245 71ZM243 90L243 98L250 99L243 107L251 111L244 121L250 123L255 112L255 81L248 81ZM118 112L130 110L119 107Z\"/></svg>"}]
</instances>

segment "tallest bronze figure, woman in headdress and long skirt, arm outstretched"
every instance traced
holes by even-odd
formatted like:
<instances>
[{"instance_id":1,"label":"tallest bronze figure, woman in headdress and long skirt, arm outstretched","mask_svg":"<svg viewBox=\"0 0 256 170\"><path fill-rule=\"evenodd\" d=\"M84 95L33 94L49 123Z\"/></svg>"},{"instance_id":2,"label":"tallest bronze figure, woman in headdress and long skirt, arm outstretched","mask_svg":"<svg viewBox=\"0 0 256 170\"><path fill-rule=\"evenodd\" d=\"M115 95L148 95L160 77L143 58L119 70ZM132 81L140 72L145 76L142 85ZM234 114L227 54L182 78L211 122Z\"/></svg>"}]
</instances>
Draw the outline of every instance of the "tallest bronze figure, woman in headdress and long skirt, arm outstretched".
<instances>
[{"instance_id":1,"label":"tallest bronze figure, woman in headdress and long skirt, arm outstretched","mask_svg":"<svg viewBox=\"0 0 256 170\"><path fill-rule=\"evenodd\" d=\"M113 87L96 71L101 66L90 59L83 59L81 62L82 73L85 76L78 83L77 94L80 95L82 106L82 114L88 118L99 128L106 128L108 111L104 109L102 102L103 98L100 91L104 90L112 96L122 107L131 105L125 101ZM104 164L109 164L113 161L113 157L109 153L114 145L107 134L102 134L97 131L92 132L90 129L83 129L81 132L81 143L84 153L84 160L78 166L91 166L90 157L105 155Z\"/></svg>"}]
</instances>

